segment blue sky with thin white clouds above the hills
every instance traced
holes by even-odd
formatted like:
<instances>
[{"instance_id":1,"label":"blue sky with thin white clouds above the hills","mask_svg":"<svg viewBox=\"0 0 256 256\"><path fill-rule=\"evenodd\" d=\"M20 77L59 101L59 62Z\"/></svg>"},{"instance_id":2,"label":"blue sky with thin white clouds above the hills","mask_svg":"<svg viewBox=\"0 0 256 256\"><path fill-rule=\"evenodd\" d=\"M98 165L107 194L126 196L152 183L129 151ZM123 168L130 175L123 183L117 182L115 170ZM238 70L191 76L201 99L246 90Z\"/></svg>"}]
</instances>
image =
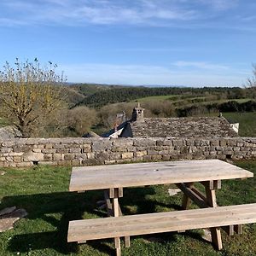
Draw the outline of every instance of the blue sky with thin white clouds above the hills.
<instances>
[{"instance_id":1,"label":"blue sky with thin white clouds above the hills","mask_svg":"<svg viewBox=\"0 0 256 256\"><path fill-rule=\"evenodd\" d=\"M68 82L242 86L255 0L1 0L4 61L53 61Z\"/></svg>"}]
</instances>

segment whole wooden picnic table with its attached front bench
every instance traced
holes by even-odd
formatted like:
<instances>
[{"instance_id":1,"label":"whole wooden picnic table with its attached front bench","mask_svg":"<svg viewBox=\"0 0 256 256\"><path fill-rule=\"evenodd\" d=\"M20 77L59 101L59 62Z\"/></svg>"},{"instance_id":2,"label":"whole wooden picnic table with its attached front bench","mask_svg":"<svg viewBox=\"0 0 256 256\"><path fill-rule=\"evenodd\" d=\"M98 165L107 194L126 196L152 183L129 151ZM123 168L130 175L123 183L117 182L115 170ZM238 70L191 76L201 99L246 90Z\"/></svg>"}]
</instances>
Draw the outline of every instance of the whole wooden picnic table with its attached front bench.
<instances>
[{"instance_id":1,"label":"whole wooden picnic table with its attached front bench","mask_svg":"<svg viewBox=\"0 0 256 256\"><path fill-rule=\"evenodd\" d=\"M125 247L129 247L130 236L210 228L212 244L220 250L220 229L230 236L240 234L241 224L256 222L256 204L218 207L216 189L222 180L247 177L253 173L221 160L73 167L69 190L105 189L108 215L113 217L70 221L67 241L114 238L116 255L120 255L120 237L125 237ZM195 189L195 182L204 185L205 195ZM123 188L169 183L183 191L183 211L122 216ZM203 209L188 210L190 201Z\"/></svg>"}]
</instances>

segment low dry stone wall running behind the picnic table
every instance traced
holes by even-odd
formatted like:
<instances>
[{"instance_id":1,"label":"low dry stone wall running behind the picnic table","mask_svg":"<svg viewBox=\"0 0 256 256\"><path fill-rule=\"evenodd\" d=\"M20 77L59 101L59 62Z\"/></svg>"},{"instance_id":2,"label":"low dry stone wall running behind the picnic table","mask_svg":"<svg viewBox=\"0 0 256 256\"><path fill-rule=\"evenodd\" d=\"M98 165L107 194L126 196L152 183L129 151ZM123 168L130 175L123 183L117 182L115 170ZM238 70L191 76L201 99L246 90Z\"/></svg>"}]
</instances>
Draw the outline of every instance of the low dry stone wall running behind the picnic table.
<instances>
[{"instance_id":1,"label":"low dry stone wall running behind the picnic table","mask_svg":"<svg viewBox=\"0 0 256 256\"><path fill-rule=\"evenodd\" d=\"M256 137L15 138L0 141L0 167L252 158L256 158Z\"/></svg>"}]
</instances>

